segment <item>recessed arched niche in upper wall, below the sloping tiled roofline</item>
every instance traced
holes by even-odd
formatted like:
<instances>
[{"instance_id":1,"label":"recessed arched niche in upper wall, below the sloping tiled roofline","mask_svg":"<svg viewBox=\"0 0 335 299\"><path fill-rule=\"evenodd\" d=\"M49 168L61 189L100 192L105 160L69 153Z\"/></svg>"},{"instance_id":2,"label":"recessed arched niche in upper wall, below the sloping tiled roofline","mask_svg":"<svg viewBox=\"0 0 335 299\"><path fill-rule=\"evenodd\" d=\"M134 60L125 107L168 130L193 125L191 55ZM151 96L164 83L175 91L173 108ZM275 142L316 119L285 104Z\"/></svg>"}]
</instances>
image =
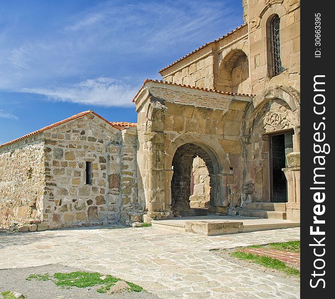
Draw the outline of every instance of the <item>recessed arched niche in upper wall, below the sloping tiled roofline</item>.
<instances>
[{"instance_id":1,"label":"recessed arched niche in upper wall, below the sloping tiled roofline","mask_svg":"<svg viewBox=\"0 0 335 299\"><path fill-rule=\"evenodd\" d=\"M218 70L216 89L248 93L249 88L249 62L245 53L244 44L231 47L229 52L222 53L223 59Z\"/></svg>"}]
</instances>

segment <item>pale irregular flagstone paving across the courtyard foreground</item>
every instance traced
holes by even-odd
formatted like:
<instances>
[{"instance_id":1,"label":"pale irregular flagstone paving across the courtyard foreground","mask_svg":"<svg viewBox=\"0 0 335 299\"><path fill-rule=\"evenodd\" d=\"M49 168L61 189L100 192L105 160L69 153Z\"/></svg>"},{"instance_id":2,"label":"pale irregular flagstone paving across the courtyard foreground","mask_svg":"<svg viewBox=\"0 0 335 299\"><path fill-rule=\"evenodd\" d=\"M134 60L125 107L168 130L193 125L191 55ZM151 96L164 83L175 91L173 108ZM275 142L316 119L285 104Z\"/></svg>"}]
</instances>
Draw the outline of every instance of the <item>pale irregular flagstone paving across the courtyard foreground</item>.
<instances>
[{"instance_id":1,"label":"pale irregular flagstone paving across the courtyard foreground","mask_svg":"<svg viewBox=\"0 0 335 299\"><path fill-rule=\"evenodd\" d=\"M60 263L111 274L162 299L298 299L298 280L239 266L210 250L299 239L299 228L213 237L112 226L0 234L0 269Z\"/></svg>"}]
</instances>

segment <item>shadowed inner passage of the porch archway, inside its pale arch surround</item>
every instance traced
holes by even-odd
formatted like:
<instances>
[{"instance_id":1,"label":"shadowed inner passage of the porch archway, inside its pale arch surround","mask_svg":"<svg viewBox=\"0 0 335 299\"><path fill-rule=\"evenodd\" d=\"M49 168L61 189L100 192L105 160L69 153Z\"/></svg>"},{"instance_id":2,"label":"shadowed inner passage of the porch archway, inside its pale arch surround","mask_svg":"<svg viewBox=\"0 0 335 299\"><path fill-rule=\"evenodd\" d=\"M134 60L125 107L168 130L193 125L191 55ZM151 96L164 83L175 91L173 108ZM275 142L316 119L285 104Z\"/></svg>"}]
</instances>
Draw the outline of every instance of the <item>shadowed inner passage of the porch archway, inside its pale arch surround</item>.
<instances>
[{"instance_id":1,"label":"shadowed inner passage of the porch archway, inside its pale arch surround","mask_svg":"<svg viewBox=\"0 0 335 299\"><path fill-rule=\"evenodd\" d=\"M191 173L196 157L201 158L206 165L209 175L210 202L204 198L204 206L190 206ZM205 168L205 167L204 167ZM219 190L219 182L216 179L219 172L219 164L213 152L204 145L187 143L180 146L172 160L173 176L171 180L171 211L174 216L206 215L214 204L214 196ZM205 187L205 184L203 184ZM201 193L201 191L199 192ZM193 194L192 196L194 196ZM201 196L201 195L198 195ZM192 199L192 197L191 197Z\"/></svg>"}]
</instances>

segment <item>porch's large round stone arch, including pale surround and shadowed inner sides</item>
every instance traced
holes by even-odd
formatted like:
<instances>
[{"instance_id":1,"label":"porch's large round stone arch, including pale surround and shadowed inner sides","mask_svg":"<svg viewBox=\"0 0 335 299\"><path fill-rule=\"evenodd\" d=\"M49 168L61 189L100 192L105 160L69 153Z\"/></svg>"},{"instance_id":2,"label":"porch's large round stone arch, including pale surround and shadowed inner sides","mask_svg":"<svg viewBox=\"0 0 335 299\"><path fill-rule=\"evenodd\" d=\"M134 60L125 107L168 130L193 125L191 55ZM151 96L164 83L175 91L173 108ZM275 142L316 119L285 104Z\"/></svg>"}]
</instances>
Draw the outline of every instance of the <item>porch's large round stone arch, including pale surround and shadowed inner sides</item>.
<instances>
[{"instance_id":1,"label":"porch's large round stone arch, including pale surround and shadowed inner sides","mask_svg":"<svg viewBox=\"0 0 335 299\"><path fill-rule=\"evenodd\" d=\"M223 211L230 202L227 184L233 175L222 146L210 136L185 134L172 142L165 154L165 206L172 215L182 216L190 209L191 168L196 156L205 161L210 173L210 210Z\"/></svg>"}]
</instances>

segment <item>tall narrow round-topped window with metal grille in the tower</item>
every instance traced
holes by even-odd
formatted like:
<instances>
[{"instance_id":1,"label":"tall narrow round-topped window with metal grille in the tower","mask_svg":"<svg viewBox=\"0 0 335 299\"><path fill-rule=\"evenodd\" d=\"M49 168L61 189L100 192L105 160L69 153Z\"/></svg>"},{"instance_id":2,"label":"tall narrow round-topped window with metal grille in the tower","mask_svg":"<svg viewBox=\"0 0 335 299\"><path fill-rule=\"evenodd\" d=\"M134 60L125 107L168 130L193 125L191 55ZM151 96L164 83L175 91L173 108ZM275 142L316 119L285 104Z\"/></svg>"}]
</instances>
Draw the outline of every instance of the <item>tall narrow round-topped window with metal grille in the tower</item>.
<instances>
[{"instance_id":1,"label":"tall narrow round-topped window with metal grille in the tower","mask_svg":"<svg viewBox=\"0 0 335 299\"><path fill-rule=\"evenodd\" d=\"M272 77L284 71L280 59L280 18L276 14L269 23Z\"/></svg>"}]
</instances>

